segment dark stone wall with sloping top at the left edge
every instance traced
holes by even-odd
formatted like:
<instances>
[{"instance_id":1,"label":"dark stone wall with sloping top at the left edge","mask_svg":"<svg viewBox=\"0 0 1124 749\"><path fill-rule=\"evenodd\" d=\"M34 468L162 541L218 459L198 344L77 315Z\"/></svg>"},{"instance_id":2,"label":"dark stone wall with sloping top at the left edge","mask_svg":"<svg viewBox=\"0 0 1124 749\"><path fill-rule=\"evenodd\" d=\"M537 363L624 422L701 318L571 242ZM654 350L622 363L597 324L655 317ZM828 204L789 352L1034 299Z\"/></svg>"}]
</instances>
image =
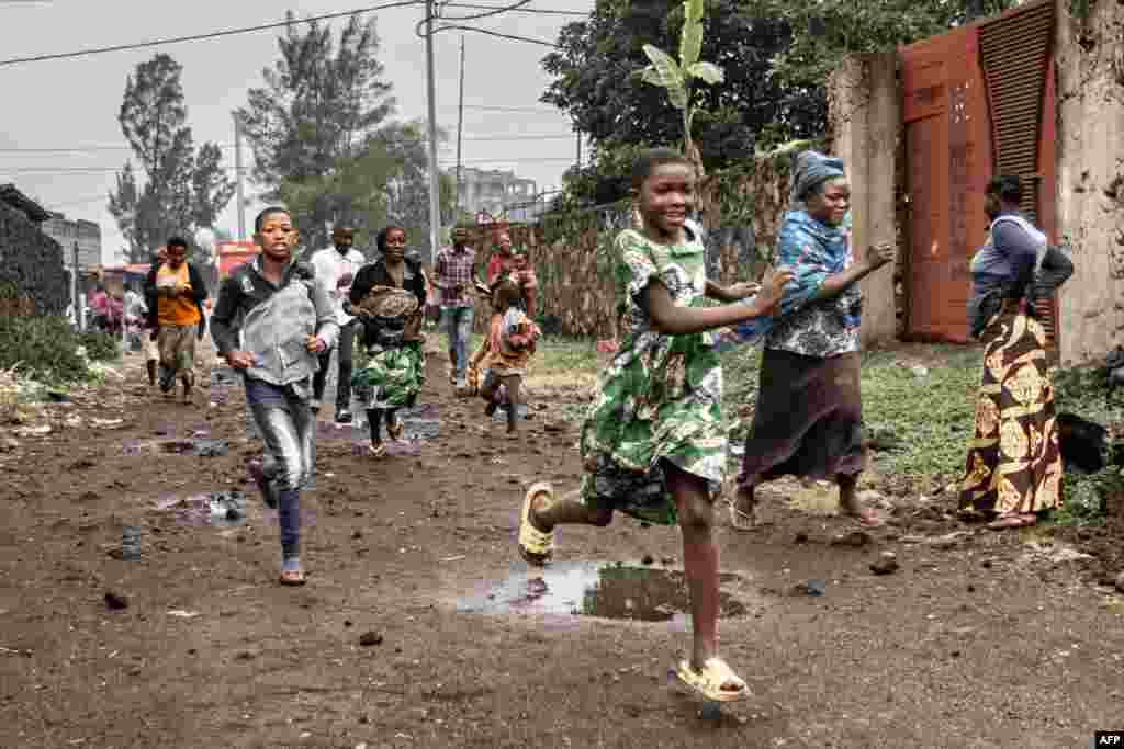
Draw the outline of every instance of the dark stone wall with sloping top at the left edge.
<instances>
[{"instance_id":1,"label":"dark stone wall with sloping top at the left edge","mask_svg":"<svg viewBox=\"0 0 1124 749\"><path fill-rule=\"evenodd\" d=\"M0 203L0 314L64 314L70 289L62 247L24 213Z\"/></svg>"}]
</instances>

